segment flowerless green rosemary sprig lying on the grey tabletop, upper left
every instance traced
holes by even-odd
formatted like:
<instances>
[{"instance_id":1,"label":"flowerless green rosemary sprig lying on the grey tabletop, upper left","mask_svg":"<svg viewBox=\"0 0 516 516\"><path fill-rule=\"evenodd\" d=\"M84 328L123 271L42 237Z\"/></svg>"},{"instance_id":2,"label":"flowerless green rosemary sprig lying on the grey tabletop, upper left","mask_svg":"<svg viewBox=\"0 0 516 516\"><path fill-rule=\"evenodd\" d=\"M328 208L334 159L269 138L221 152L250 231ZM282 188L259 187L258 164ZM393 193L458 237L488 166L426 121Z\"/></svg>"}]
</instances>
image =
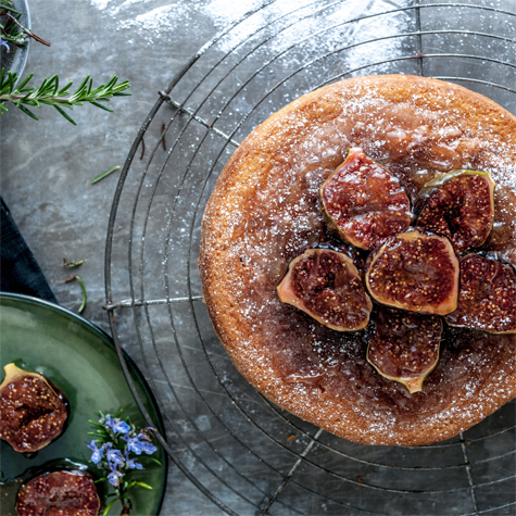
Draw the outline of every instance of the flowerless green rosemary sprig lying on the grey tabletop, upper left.
<instances>
[{"instance_id":1,"label":"flowerless green rosemary sprig lying on the grey tabletop, upper left","mask_svg":"<svg viewBox=\"0 0 516 516\"><path fill-rule=\"evenodd\" d=\"M43 79L39 88L27 88L28 81L33 78L34 74L28 75L22 80L18 87L15 87L16 74L7 72L2 68L0 74L0 114L8 111L4 102L12 102L16 108L23 111L26 115L34 119L39 119L28 108L41 108L41 104L48 104L55 108L60 114L62 114L68 122L77 125L74 119L64 112L63 108L72 110L74 105L83 105L85 102L89 102L96 108L112 112L101 102L109 102L112 97L130 96L126 92L130 85L127 80L116 84L118 77L114 75L106 85L100 85L93 88L93 79L88 75L75 93L70 93L70 88L73 83L68 83L63 88L59 86L58 75L52 75L48 79Z\"/></svg>"}]
</instances>

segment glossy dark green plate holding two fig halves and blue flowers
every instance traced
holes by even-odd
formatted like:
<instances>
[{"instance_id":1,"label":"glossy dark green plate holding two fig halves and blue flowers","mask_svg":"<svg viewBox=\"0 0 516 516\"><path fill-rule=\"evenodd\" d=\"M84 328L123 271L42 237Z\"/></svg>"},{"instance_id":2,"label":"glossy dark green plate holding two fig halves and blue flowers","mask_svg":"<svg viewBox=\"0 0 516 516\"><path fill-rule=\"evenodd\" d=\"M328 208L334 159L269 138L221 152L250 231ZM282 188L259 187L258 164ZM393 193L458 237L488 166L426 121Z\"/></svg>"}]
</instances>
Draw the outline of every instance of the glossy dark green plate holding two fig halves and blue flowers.
<instances>
[{"instance_id":1,"label":"glossy dark green plate holding two fig halves and blue flowers","mask_svg":"<svg viewBox=\"0 0 516 516\"><path fill-rule=\"evenodd\" d=\"M61 306L35 298L17 294L0 294L0 339L1 366L14 362L26 370L43 374L53 381L70 401L71 415L64 433L47 448L40 450L34 458L16 453L7 442L1 442L0 481L14 488L16 477L26 478L30 473L45 468L59 460L88 465L91 452L85 442L90 442L92 430L88 419L98 420L99 411L104 414L116 413L130 416L137 428L147 425L127 387L122 373L115 348L111 338L88 320ZM155 400L141 373L126 355L138 393L163 433L162 420ZM155 456L162 463L142 458L144 470L135 470L131 478L141 480L154 489L134 488L130 499L134 503L131 515L155 515L160 511L166 483L166 454L158 446ZM27 471L28 470L28 471ZM109 482L103 482L109 490ZM15 487L17 490L16 482ZM3 491L3 489L2 489ZM104 491L105 492L105 491ZM111 491L110 491L111 492ZM14 507L8 507L2 495L1 514L14 514ZM11 495L8 494L11 500ZM110 515L121 514L117 502Z\"/></svg>"}]
</instances>

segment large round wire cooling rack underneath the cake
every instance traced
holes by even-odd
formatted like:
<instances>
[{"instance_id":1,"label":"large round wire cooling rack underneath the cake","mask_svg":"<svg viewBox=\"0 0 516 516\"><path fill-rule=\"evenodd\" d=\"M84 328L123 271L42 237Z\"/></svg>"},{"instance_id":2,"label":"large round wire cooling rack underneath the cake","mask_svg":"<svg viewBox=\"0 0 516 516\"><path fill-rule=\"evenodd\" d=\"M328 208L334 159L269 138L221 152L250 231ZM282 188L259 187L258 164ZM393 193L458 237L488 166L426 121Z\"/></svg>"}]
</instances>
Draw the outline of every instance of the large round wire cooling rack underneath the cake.
<instances>
[{"instance_id":1,"label":"large round wire cooling rack underneath the cake","mask_svg":"<svg viewBox=\"0 0 516 516\"><path fill-rule=\"evenodd\" d=\"M514 0L269 0L160 91L113 199L105 307L118 351L123 342L159 400L160 441L214 511L516 514L514 402L431 446L339 439L276 407L236 373L197 268L216 178L273 112L341 78L406 73L456 81L516 113L515 38Z\"/></svg>"}]
</instances>

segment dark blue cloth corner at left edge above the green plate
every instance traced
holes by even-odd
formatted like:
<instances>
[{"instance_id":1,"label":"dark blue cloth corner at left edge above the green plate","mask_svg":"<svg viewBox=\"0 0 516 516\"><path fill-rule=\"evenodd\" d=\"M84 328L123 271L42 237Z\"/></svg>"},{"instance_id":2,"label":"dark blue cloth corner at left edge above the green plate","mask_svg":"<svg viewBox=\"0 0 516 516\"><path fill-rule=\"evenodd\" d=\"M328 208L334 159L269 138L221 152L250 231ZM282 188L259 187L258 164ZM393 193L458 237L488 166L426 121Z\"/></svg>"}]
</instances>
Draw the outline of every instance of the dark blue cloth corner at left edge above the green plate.
<instances>
[{"instance_id":1,"label":"dark blue cloth corner at left edge above the green plate","mask_svg":"<svg viewBox=\"0 0 516 516\"><path fill-rule=\"evenodd\" d=\"M2 198L0 214L0 290L58 303Z\"/></svg>"}]
</instances>

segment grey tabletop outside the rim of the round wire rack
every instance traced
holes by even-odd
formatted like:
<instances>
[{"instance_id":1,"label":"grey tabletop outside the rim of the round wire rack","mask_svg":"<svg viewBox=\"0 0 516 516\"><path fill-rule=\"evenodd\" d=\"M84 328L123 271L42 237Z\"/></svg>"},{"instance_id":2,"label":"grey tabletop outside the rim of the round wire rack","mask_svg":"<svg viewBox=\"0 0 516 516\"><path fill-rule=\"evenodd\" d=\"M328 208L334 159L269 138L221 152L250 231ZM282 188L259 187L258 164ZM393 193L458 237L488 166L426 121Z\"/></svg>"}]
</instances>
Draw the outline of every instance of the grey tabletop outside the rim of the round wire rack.
<instances>
[{"instance_id":1,"label":"grey tabletop outside the rim of the round wire rack","mask_svg":"<svg viewBox=\"0 0 516 516\"><path fill-rule=\"evenodd\" d=\"M49 106L36 110L39 122L15 108L0 117L2 197L58 301L73 311L81 294L77 284L60 285L71 275L63 257L85 261L77 269L88 292L83 315L110 332L103 267L117 174L93 186L91 179L124 164L158 90L227 17L216 2L199 0L30 0L29 7L34 32L52 43L32 43L24 75L34 73L34 85L54 73L62 84L91 75L99 85L117 75L131 85L131 97L110 103L113 113L76 108L75 127ZM161 514L216 514L173 465L168 486Z\"/></svg>"}]
</instances>

